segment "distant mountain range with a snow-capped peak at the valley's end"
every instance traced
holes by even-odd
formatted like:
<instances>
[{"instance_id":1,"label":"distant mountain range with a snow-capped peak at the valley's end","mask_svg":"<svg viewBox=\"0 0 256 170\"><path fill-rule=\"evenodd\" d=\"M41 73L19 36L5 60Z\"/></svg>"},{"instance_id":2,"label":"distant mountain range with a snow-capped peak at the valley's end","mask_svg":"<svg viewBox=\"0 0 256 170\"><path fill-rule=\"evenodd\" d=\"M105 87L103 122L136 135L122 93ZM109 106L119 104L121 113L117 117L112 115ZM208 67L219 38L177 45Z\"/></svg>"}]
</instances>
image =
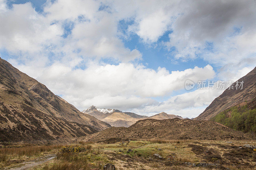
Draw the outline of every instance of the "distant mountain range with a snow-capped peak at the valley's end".
<instances>
[{"instance_id":1,"label":"distant mountain range with a snow-capped peak at the valley's end","mask_svg":"<svg viewBox=\"0 0 256 170\"><path fill-rule=\"evenodd\" d=\"M92 115L97 119L103 122L107 122L111 126L115 126L115 127L121 127L121 126L129 127L139 120L149 119L149 118L158 119L158 120L173 119L173 118L183 119L181 116L169 115L165 112L148 117L148 116L138 115L131 112L122 112L116 109L101 109L96 106L91 106L82 112L88 115Z\"/></svg>"}]
</instances>

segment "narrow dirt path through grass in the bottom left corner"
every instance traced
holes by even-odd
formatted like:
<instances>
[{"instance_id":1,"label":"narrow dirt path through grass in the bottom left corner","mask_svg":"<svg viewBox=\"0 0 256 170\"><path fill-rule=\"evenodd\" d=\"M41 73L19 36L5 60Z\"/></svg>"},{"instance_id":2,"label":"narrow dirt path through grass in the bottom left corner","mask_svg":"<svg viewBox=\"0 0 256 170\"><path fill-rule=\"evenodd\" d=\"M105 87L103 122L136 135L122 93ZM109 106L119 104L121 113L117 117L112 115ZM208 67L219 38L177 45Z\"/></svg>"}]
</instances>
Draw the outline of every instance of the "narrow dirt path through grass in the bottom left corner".
<instances>
[{"instance_id":1,"label":"narrow dirt path through grass in the bottom left corner","mask_svg":"<svg viewBox=\"0 0 256 170\"><path fill-rule=\"evenodd\" d=\"M22 164L25 164L21 167L18 167L18 168L11 168L10 170L24 170L24 169L30 169L32 168L33 166L37 166L37 165L40 165L44 162L47 162L53 158L56 157L56 154L50 154L50 155L45 155L43 157L39 157L39 158L36 158L36 159L33 159L31 161L28 161L28 162L23 162Z\"/></svg>"}]
</instances>

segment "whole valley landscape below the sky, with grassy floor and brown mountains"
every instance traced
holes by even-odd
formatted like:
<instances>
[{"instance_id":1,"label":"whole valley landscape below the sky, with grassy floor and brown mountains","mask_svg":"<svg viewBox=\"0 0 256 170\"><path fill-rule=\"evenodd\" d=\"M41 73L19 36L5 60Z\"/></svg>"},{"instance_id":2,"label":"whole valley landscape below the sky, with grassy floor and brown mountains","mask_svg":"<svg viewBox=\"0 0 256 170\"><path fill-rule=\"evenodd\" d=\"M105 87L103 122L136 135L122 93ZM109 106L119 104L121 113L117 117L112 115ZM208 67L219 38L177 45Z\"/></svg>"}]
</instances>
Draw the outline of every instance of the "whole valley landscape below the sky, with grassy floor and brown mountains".
<instances>
[{"instance_id":1,"label":"whole valley landscape below the sky, with grassy floor and brown mountains","mask_svg":"<svg viewBox=\"0 0 256 170\"><path fill-rule=\"evenodd\" d=\"M255 69L241 78L250 79L247 90L226 90L193 120L95 106L80 112L3 59L0 71L0 169L256 167Z\"/></svg>"}]
</instances>

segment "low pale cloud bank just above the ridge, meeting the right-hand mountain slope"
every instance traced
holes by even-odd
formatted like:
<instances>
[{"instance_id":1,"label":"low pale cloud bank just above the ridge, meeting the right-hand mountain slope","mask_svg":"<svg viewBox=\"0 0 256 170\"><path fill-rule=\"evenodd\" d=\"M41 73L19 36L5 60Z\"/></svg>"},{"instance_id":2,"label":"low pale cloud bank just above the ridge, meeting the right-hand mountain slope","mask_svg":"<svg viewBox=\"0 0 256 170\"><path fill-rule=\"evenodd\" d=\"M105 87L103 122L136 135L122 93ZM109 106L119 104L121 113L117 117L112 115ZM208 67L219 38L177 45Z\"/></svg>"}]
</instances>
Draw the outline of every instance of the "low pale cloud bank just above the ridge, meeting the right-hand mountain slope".
<instances>
[{"instance_id":1,"label":"low pale cloud bank just above the ridge, meeting the right-hand mountain slope","mask_svg":"<svg viewBox=\"0 0 256 170\"><path fill-rule=\"evenodd\" d=\"M196 87L195 87L196 88ZM196 117L218 97L225 89L206 87L192 92L185 92L180 95L172 96L163 102L154 102L151 105L132 109L135 113L154 115L155 113L166 112L168 114L180 115L183 118Z\"/></svg>"}]
</instances>

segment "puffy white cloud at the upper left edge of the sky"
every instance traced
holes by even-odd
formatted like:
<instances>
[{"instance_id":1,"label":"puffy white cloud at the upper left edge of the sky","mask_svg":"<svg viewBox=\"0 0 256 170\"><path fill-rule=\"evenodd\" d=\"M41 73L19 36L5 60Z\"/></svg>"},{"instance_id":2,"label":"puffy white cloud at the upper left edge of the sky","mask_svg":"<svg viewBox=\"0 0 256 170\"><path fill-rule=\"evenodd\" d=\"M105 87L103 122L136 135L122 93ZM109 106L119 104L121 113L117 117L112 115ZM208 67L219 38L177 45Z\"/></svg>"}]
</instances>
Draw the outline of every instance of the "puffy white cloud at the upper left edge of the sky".
<instances>
[{"instance_id":1,"label":"puffy white cloud at the upper left edge of the sky","mask_svg":"<svg viewBox=\"0 0 256 170\"><path fill-rule=\"evenodd\" d=\"M44 46L51 46L62 34L61 26L50 24L38 14L31 3L13 4L0 15L0 47L18 53L35 53Z\"/></svg>"}]
</instances>

